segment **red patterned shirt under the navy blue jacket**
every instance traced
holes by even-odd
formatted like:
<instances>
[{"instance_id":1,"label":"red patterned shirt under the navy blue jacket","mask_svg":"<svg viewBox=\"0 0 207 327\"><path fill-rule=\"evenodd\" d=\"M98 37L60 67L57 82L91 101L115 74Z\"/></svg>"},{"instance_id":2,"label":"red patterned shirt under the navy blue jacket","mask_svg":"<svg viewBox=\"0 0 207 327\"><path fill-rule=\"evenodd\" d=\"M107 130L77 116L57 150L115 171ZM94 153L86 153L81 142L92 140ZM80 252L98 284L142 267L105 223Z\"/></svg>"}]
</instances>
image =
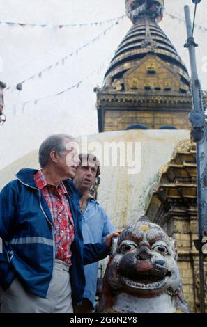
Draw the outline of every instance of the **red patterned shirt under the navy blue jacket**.
<instances>
[{"instance_id":1,"label":"red patterned shirt under the navy blue jacket","mask_svg":"<svg viewBox=\"0 0 207 327\"><path fill-rule=\"evenodd\" d=\"M54 223L56 259L71 264L70 246L74 240L75 228L68 202L68 193L63 182L58 187L49 185L42 170L34 176L38 189L43 193Z\"/></svg>"}]
</instances>

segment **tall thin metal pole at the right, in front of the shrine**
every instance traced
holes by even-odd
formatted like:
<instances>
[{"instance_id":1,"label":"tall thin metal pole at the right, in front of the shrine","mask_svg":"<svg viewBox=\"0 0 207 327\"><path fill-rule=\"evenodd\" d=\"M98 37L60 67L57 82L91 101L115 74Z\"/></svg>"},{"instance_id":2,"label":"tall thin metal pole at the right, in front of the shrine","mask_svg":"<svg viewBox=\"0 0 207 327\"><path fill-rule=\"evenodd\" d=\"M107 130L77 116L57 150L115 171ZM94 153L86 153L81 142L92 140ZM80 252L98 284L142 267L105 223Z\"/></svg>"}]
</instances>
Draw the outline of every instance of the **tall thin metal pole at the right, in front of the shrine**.
<instances>
[{"instance_id":1,"label":"tall thin metal pole at the right, in front of the shrine","mask_svg":"<svg viewBox=\"0 0 207 327\"><path fill-rule=\"evenodd\" d=\"M202 252L202 212L201 212L201 149L200 141L204 136L204 107L201 95L201 86L199 83L199 77L197 73L197 62L196 62L196 51L195 47L197 44L194 42L192 37L192 23L190 19L190 8L185 6L185 21L187 28L187 44L185 47L189 49L190 54L190 66L192 71L192 98L193 98L193 109L190 113L190 120L194 134L194 141L197 143L197 206L198 206L198 223L199 223L199 240L195 242L197 250L199 250L199 277L200 277L200 308L201 312L205 312L205 289L204 289L204 254Z\"/></svg>"}]
</instances>

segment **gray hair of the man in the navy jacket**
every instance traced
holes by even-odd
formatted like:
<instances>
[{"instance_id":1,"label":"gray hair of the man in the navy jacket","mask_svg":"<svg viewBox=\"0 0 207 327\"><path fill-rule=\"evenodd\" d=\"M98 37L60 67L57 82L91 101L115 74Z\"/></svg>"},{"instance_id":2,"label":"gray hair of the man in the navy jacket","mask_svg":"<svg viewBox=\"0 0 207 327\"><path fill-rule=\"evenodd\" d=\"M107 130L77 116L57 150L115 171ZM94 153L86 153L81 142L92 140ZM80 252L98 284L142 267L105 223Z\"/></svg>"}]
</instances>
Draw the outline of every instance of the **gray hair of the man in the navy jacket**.
<instances>
[{"instance_id":1,"label":"gray hair of the man in the navy jacket","mask_svg":"<svg viewBox=\"0 0 207 327\"><path fill-rule=\"evenodd\" d=\"M66 138L70 141L74 141L74 138L68 134L54 134L43 141L39 149L40 168L45 168L45 166L47 166L52 151L55 151L60 156L62 155L63 151L66 150Z\"/></svg>"}]
</instances>

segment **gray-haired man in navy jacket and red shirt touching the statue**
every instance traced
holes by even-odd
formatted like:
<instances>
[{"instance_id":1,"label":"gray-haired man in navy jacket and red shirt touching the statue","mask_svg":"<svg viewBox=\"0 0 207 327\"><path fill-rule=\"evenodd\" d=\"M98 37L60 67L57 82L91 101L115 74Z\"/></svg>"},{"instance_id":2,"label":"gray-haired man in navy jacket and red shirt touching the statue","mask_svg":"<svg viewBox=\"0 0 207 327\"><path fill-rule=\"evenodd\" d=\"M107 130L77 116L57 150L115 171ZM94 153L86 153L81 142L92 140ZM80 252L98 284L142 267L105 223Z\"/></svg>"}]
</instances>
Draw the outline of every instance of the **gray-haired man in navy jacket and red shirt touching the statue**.
<instances>
[{"instance_id":1,"label":"gray-haired man in navy jacket and red shirt touching the statue","mask_svg":"<svg viewBox=\"0 0 207 327\"><path fill-rule=\"evenodd\" d=\"M20 170L0 193L1 312L72 312L72 300L82 302L84 264L109 253L116 233L102 244L83 244L71 142L64 134L47 138L41 170Z\"/></svg>"}]
</instances>

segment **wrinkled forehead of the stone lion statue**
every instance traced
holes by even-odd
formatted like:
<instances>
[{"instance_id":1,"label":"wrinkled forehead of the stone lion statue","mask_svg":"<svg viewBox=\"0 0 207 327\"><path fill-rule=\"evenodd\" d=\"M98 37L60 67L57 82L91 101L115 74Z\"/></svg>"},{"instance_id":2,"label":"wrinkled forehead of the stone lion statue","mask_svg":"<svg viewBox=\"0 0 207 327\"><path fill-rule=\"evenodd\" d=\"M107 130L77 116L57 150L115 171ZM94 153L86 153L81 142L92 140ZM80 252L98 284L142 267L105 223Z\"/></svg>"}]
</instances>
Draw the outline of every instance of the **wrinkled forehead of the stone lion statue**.
<instances>
[{"instance_id":1,"label":"wrinkled forehead of the stone lion statue","mask_svg":"<svg viewBox=\"0 0 207 327\"><path fill-rule=\"evenodd\" d=\"M132 239L137 243L141 241L153 243L158 240L163 240L167 242L167 244L170 244L169 237L160 226L147 222L135 223L125 228L118 237L118 243L121 243L124 239Z\"/></svg>"}]
</instances>

